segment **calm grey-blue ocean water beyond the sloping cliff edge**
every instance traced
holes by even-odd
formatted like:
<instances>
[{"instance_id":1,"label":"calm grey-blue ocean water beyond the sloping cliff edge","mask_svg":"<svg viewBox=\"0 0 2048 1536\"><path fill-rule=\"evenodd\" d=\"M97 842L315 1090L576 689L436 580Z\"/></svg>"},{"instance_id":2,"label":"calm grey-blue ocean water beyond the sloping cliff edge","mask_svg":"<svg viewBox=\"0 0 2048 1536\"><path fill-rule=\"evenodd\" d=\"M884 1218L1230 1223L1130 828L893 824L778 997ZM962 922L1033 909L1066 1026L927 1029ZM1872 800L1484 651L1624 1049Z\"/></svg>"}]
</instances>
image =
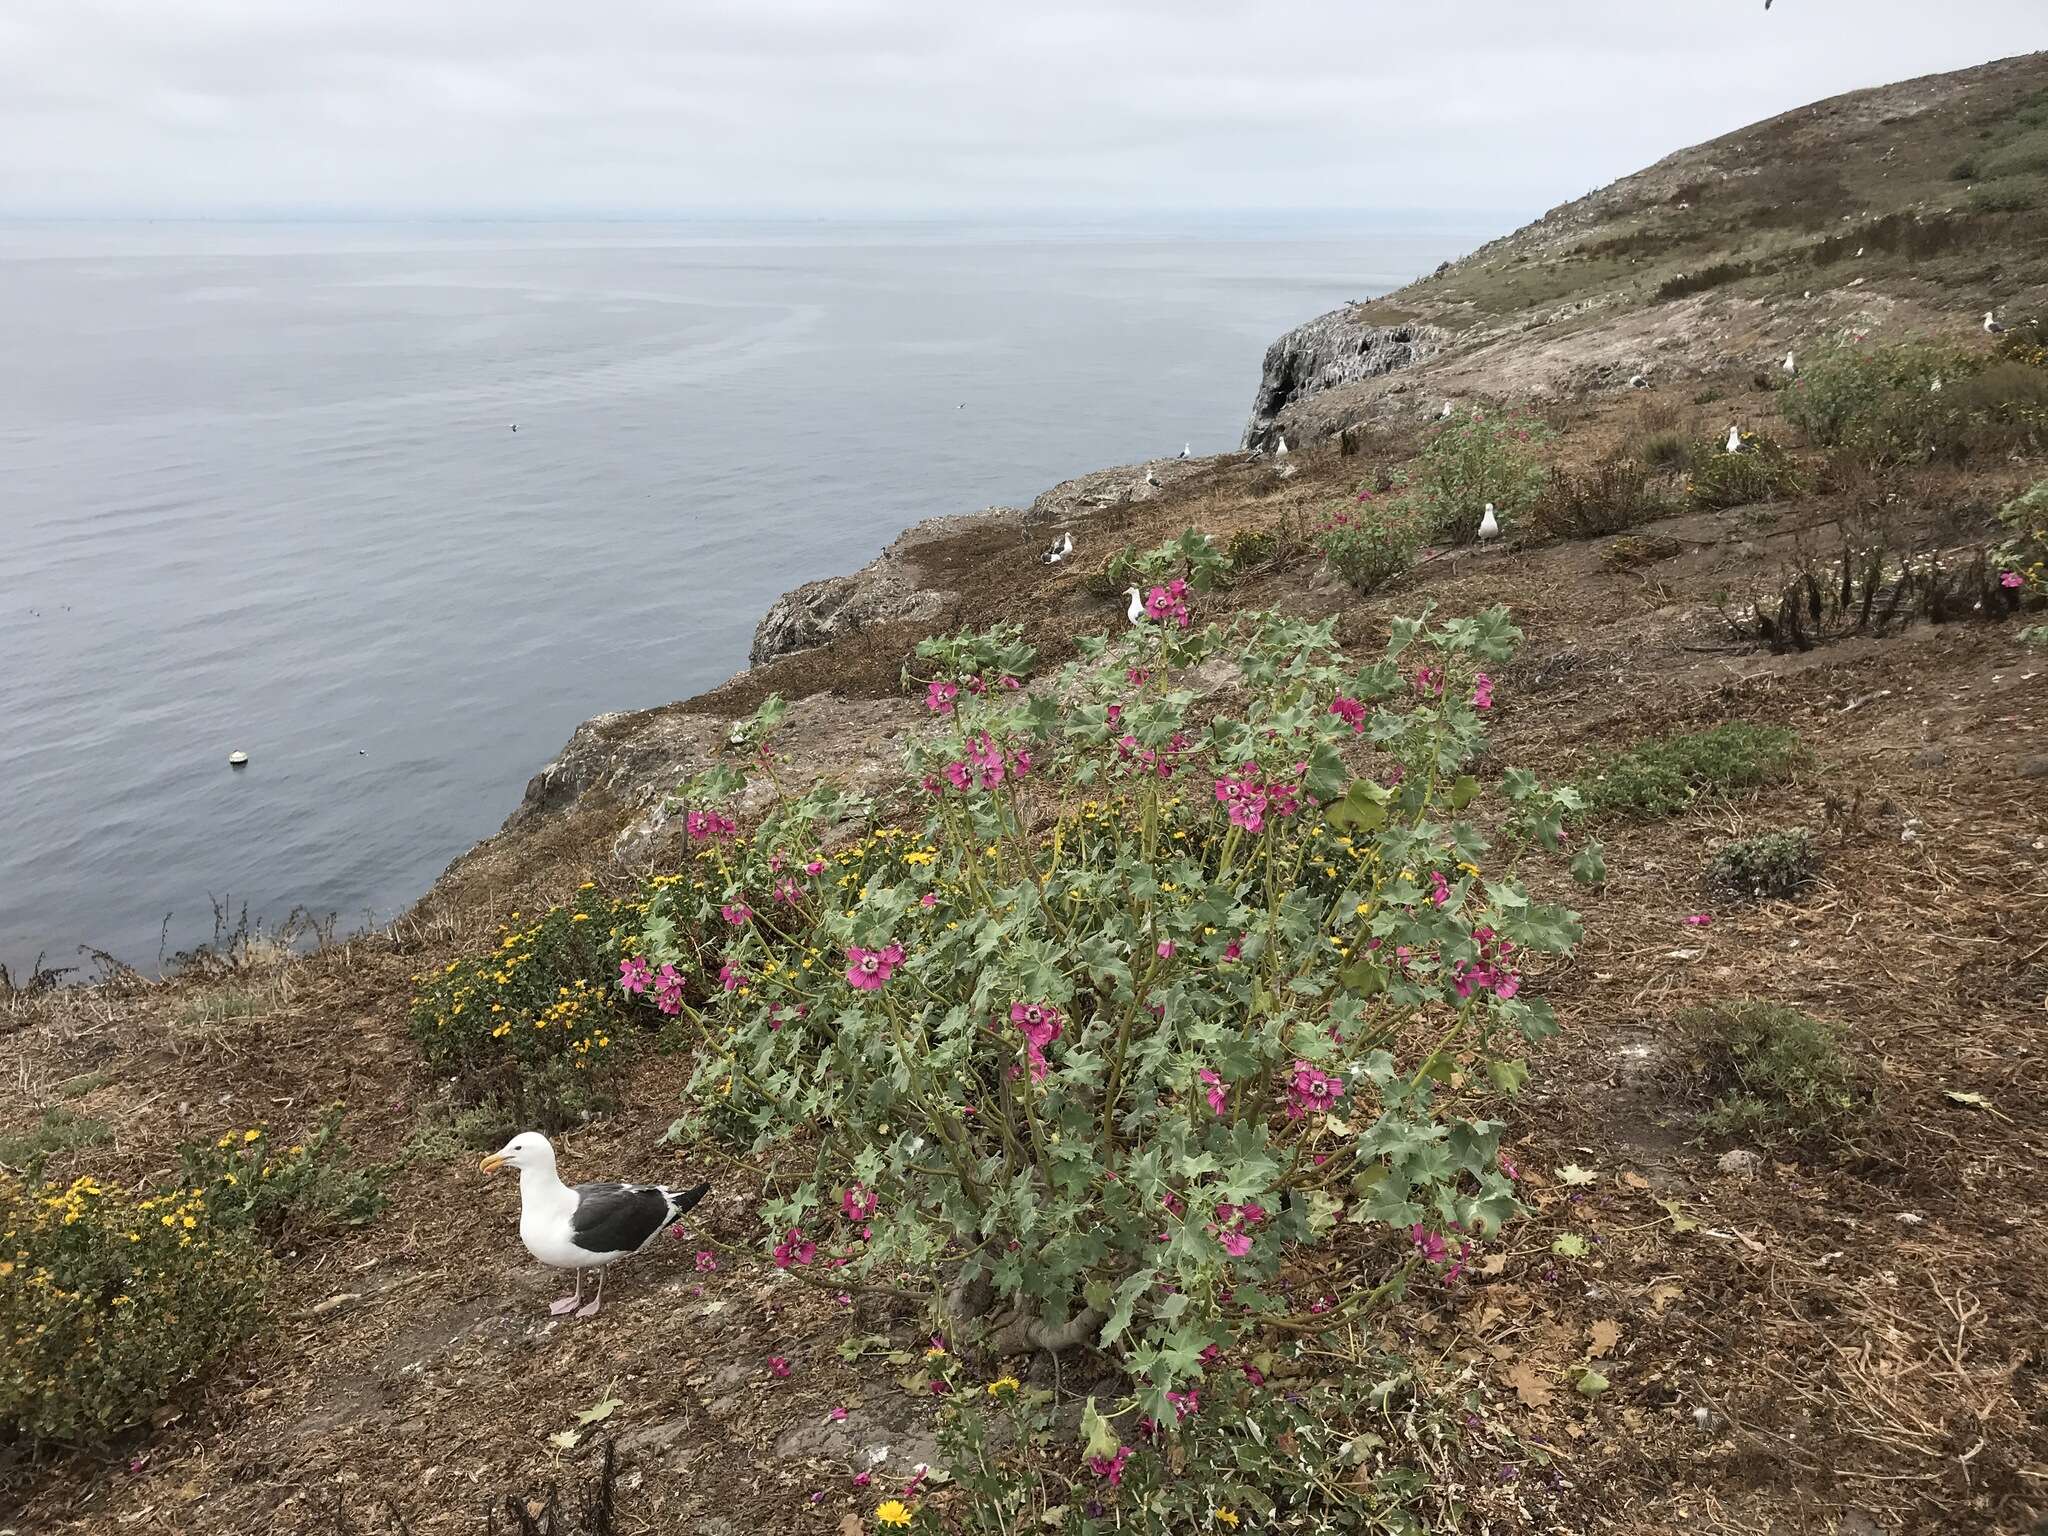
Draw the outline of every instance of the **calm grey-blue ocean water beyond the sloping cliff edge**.
<instances>
[{"instance_id":1,"label":"calm grey-blue ocean water beyond the sloping cliff edge","mask_svg":"<svg viewBox=\"0 0 2048 1536\"><path fill-rule=\"evenodd\" d=\"M389 918L778 592L1235 446L1268 340L1485 233L0 223L0 963Z\"/></svg>"}]
</instances>

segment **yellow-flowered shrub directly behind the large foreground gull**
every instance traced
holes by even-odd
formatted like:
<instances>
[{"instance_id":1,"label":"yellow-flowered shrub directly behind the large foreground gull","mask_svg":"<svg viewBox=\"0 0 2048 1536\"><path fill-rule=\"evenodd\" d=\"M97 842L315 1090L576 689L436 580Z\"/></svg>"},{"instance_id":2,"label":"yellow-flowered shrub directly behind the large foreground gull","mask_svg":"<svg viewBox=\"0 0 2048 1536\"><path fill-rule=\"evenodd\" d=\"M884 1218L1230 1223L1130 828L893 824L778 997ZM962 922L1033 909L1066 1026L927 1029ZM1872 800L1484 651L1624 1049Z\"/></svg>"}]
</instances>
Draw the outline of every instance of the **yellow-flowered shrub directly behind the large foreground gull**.
<instances>
[{"instance_id":1,"label":"yellow-flowered shrub directly behind the large foreground gull","mask_svg":"<svg viewBox=\"0 0 2048 1536\"><path fill-rule=\"evenodd\" d=\"M692 836L698 829L692 823ZM492 952L414 977L412 1038L428 1065L522 1124L571 1124L602 1100L631 1040L618 1028L618 958L637 938L641 907L586 885L567 907L502 928Z\"/></svg>"}]
</instances>

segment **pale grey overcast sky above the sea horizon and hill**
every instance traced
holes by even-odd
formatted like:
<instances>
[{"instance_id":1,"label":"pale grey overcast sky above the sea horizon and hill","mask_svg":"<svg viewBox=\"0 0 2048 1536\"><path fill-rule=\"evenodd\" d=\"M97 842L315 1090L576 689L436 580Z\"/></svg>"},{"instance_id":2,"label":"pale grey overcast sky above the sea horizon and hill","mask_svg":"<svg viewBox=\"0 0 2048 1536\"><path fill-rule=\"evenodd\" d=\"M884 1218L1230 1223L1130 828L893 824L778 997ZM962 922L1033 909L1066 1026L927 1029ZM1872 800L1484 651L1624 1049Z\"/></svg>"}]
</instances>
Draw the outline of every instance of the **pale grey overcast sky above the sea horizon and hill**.
<instances>
[{"instance_id":1,"label":"pale grey overcast sky above the sea horizon and hill","mask_svg":"<svg viewBox=\"0 0 2048 1536\"><path fill-rule=\"evenodd\" d=\"M0 0L0 215L1534 211L2044 0Z\"/></svg>"}]
</instances>

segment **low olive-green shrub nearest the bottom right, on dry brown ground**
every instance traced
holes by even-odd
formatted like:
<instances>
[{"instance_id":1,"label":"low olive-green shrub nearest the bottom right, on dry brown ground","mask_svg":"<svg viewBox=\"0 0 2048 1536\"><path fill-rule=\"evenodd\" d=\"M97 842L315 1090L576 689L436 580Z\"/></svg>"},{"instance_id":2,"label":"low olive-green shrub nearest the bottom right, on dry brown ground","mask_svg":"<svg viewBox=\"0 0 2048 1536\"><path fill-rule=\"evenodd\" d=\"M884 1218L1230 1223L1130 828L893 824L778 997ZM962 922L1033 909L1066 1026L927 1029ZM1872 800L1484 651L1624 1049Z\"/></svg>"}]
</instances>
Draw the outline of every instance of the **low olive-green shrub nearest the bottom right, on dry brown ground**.
<instances>
[{"instance_id":1,"label":"low olive-green shrub nearest the bottom right, on dry brown ground","mask_svg":"<svg viewBox=\"0 0 2048 1536\"><path fill-rule=\"evenodd\" d=\"M1837 1024L1763 1001L1688 1010L1690 1036L1714 1098L1700 1124L1716 1135L1796 1141L1839 1139L1864 1120L1874 1098L1843 1055Z\"/></svg>"}]
</instances>

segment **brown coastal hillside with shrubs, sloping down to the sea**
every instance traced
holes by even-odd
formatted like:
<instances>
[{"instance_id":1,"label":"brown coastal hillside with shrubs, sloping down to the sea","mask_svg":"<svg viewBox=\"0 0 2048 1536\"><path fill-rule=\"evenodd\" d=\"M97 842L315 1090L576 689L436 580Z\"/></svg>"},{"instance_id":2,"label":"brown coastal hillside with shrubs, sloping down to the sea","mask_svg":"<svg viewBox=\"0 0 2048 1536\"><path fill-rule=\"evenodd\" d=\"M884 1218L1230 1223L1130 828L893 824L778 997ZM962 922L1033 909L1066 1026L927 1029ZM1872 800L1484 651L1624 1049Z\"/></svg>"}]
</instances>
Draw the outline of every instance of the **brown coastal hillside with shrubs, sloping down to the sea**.
<instances>
[{"instance_id":1,"label":"brown coastal hillside with shrubs, sloping down to the sea","mask_svg":"<svg viewBox=\"0 0 2048 1536\"><path fill-rule=\"evenodd\" d=\"M2048 53L786 594L389 930L10 979L0 1522L2032 1530L2042 934ZM535 1128L709 1184L590 1317Z\"/></svg>"}]
</instances>

